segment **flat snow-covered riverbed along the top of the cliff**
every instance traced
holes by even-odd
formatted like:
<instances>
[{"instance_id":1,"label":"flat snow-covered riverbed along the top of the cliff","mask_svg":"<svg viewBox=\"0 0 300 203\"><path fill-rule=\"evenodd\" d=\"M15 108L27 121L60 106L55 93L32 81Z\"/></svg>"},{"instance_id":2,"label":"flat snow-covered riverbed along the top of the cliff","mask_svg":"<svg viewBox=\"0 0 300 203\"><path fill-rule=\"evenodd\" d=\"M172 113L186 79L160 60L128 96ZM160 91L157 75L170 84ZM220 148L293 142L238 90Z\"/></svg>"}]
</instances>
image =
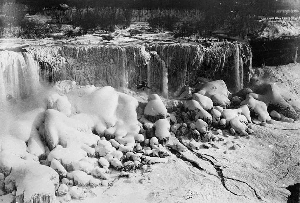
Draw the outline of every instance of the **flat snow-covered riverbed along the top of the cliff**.
<instances>
[{"instance_id":1,"label":"flat snow-covered riverbed along the top of the cliff","mask_svg":"<svg viewBox=\"0 0 300 203\"><path fill-rule=\"evenodd\" d=\"M46 23L49 20L49 16L26 16L31 19L35 19L38 22ZM139 29L143 32L143 35L139 36L130 36L131 29ZM54 35L62 35L66 30L78 30L78 28L73 29L71 25L63 25L58 33ZM34 45L82 45L82 44L92 44L92 45L113 45L113 46L132 46L143 43L161 43L161 44L171 44L171 43L190 43L198 44L196 42L187 42L187 37L181 39L180 37L175 39L173 33L161 32L153 33L149 32L149 23L147 21L132 21L130 27L126 29L116 29L114 33L107 32L95 32L92 34L85 34L75 38L63 37L61 40L55 40L53 38L44 38L44 39L20 39L20 38L3 38L0 39L0 50L1 49L10 49L14 47L22 46L34 46ZM107 41L103 40L101 35L111 35L113 40ZM196 37L193 37L195 40Z\"/></svg>"}]
</instances>

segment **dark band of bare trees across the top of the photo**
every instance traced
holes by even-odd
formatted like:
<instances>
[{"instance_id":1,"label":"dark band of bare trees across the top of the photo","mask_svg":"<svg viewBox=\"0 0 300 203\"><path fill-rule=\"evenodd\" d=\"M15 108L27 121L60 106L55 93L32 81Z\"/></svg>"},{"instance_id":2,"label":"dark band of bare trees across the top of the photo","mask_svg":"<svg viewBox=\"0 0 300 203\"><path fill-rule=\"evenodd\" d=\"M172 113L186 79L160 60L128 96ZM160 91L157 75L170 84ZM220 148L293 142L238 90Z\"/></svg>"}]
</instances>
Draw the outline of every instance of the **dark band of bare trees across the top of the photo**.
<instances>
[{"instance_id":1,"label":"dark band of bare trees across the top of the photo","mask_svg":"<svg viewBox=\"0 0 300 203\"><path fill-rule=\"evenodd\" d=\"M70 9L57 10L58 4L67 4ZM222 28L243 37L258 30L260 18L298 19L300 0L0 0L0 35L24 34L24 25L32 30L41 27L31 25L20 10L49 15L52 23L71 24L82 33L114 32L135 19L149 21L154 32L173 32L177 37L203 37Z\"/></svg>"}]
</instances>

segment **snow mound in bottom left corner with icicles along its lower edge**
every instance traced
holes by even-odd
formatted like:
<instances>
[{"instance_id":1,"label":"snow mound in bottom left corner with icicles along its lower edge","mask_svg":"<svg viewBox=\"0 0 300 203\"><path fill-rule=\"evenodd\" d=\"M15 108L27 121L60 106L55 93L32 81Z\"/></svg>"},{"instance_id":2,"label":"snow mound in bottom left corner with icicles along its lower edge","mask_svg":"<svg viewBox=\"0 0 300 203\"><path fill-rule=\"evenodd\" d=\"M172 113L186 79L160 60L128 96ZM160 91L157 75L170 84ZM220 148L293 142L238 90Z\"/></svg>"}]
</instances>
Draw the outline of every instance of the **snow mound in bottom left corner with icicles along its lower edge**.
<instances>
[{"instance_id":1,"label":"snow mound in bottom left corner with icicles along its lower edge","mask_svg":"<svg viewBox=\"0 0 300 203\"><path fill-rule=\"evenodd\" d=\"M6 175L5 190L16 189L16 202L55 202L59 175L52 168L4 151L0 152L0 166Z\"/></svg>"}]
</instances>

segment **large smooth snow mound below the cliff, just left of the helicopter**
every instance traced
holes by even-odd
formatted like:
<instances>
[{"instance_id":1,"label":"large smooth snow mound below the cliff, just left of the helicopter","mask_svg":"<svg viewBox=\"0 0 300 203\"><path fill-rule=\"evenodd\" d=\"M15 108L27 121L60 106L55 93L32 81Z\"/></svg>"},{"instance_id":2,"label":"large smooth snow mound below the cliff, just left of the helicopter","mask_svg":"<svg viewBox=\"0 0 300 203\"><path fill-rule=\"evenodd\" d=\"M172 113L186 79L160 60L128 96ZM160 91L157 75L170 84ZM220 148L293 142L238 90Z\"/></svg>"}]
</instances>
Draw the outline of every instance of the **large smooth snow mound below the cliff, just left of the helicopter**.
<instances>
[{"instance_id":1,"label":"large smooth snow mound below the cliff, just left of the helicopter","mask_svg":"<svg viewBox=\"0 0 300 203\"><path fill-rule=\"evenodd\" d=\"M93 85L74 89L67 97L73 114L92 115L88 127L91 128L94 122L98 135L107 134L114 138L140 131L136 112L138 102L134 97L116 92L110 86L96 88Z\"/></svg>"}]
</instances>

